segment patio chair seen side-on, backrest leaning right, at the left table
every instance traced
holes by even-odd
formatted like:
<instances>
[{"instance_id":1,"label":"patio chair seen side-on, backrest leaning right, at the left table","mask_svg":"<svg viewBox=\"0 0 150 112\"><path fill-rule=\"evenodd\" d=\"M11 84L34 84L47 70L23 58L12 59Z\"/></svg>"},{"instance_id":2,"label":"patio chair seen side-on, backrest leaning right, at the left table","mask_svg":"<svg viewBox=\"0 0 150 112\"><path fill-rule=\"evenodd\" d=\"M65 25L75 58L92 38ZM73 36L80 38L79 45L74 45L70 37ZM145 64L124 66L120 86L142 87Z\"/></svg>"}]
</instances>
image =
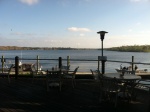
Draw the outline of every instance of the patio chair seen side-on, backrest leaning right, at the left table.
<instances>
[{"instance_id":1,"label":"patio chair seen side-on, backrest leaning right, at the left table","mask_svg":"<svg viewBox=\"0 0 150 112\"><path fill-rule=\"evenodd\" d=\"M63 78L64 79L71 79L72 80L72 87L73 88L76 85L75 77L76 77L76 73L77 73L78 69L79 69L79 66L76 67L73 72L71 72L71 71L63 72L63 74L64 74Z\"/></svg>"}]
</instances>

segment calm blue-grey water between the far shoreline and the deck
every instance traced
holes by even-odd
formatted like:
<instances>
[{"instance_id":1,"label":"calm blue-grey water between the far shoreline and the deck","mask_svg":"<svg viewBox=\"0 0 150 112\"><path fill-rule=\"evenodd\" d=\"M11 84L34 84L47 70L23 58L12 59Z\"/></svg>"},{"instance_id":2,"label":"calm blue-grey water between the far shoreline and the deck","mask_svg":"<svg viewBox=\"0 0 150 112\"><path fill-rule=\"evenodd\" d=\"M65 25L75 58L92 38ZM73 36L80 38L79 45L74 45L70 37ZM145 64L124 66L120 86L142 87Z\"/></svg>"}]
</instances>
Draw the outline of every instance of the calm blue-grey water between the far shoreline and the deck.
<instances>
[{"instance_id":1,"label":"calm blue-grey water between the far shoreline and the deck","mask_svg":"<svg viewBox=\"0 0 150 112\"><path fill-rule=\"evenodd\" d=\"M22 62L33 62L36 63L36 60L27 60L27 59L36 59L37 55L40 59L67 59L67 56L70 56L70 59L83 59L83 60L97 60L98 56L101 56L101 50L12 50L12 51L0 51L0 56L4 55L6 64L14 63L14 60L9 58L14 58L19 56L22 58ZM107 56L106 62L106 72L116 72L115 68L119 68L120 64L123 66L130 66L129 63L118 63L110 62L112 61L126 61L131 62L132 56L134 56L134 62L139 63L150 63L150 53L139 53L139 52L116 52L116 51L104 51L104 55ZM53 60L40 60L42 69L48 69L55 65L58 65L58 61ZM63 61L63 65L66 65L66 61ZM71 69L74 69L76 66L79 66L79 71L89 72L90 69L97 69L97 61L70 61ZM150 71L150 65L137 64L139 69L148 69Z\"/></svg>"}]
</instances>

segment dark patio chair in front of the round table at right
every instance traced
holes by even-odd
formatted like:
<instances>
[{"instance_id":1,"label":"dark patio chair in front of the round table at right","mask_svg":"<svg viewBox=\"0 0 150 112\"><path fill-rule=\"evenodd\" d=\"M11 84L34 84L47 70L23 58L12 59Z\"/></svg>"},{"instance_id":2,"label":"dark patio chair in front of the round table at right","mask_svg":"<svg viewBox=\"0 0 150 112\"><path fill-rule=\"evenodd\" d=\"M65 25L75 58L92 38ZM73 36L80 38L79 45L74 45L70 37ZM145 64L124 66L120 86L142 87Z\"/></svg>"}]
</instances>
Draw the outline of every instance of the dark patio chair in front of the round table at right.
<instances>
[{"instance_id":1,"label":"dark patio chair in front of the round table at right","mask_svg":"<svg viewBox=\"0 0 150 112\"><path fill-rule=\"evenodd\" d=\"M118 93L120 92L120 88L118 86L117 80L115 78L100 78L100 100L109 100L114 101L114 107L117 107L118 102Z\"/></svg>"}]
</instances>

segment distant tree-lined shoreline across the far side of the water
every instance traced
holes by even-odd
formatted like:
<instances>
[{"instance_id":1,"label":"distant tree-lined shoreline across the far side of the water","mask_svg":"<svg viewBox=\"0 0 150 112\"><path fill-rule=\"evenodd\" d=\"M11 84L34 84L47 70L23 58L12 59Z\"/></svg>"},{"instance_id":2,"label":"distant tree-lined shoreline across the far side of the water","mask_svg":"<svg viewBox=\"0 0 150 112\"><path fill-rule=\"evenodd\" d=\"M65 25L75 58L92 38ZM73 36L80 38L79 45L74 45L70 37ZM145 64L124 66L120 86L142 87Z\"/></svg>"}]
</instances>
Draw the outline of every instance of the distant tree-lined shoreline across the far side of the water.
<instances>
[{"instance_id":1,"label":"distant tree-lined shoreline across the far side of the water","mask_svg":"<svg viewBox=\"0 0 150 112\"><path fill-rule=\"evenodd\" d=\"M0 50L101 50L101 48L0 46ZM150 45L111 47L104 48L104 50L119 52L150 52Z\"/></svg>"}]
</instances>

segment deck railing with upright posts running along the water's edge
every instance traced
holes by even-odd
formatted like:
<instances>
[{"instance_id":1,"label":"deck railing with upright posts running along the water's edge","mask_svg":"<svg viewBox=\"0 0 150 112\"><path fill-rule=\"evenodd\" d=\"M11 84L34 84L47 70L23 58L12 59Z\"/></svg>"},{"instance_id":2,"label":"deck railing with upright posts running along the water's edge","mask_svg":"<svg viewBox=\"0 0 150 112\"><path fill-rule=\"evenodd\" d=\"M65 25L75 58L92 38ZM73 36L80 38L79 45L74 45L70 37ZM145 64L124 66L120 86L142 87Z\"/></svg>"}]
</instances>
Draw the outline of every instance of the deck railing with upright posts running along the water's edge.
<instances>
[{"instance_id":1,"label":"deck railing with upright posts running along the water's edge","mask_svg":"<svg viewBox=\"0 0 150 112\"><path fill-rule=\"evenodd\" d=\"M2 56L1 59L1 72L4 72L4 69L6 68L6 65L15 64L15 75L19 74L19 62L22 63L34 63L36 64L36 68L42 67L42 70L52 69L52 67L61 67L62 65L69 66L70 69L73 70L76 66L79 66L80 69L78 72L84 72L90 73L90 69L99 69L102 71L102 64L101 61L97 58L97 60L92 59L70 59L69 56L66 57L66 59L63 59L61 57L56 57L55 59L40 59L39 56L37 56L36 59L28 59L28 58L19 58L18 56L14 58L4 58ZM134 65L138 65L139 68L148 70L150 63L139 63L134 62L134 57L132 56L132 61L116 61L116 60L106 60L104 69L107 72L116 72L114 67L120 67L121 64L130 64L132 66L132 70L134 69Z\"/></svg>"}]
</instances>

